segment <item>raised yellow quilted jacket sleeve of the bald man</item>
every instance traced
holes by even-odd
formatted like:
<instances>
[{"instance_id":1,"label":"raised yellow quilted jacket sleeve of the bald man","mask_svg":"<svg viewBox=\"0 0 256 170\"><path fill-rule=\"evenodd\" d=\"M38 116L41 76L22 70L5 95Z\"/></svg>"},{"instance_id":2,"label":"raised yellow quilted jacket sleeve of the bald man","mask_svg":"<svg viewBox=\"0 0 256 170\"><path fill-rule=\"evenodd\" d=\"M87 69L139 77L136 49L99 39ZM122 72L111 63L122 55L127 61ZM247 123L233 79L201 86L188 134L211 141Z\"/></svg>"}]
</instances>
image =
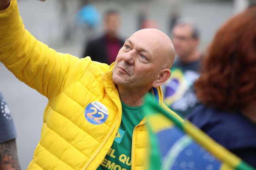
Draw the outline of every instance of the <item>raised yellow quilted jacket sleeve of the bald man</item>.
<instances>
[{"instance_id":1,"label":"raised yellow quilted jacket sleeve of the bald man","mask_svg":"<svg viewBox=\"0 0 256 170\"><path fill-rule=\"evenodd\" d=\"M48 99L78 80L91 63L58 53L25 30L17 0L0 11L0 61L15 76Z\"/></svg>"}]
</instances>

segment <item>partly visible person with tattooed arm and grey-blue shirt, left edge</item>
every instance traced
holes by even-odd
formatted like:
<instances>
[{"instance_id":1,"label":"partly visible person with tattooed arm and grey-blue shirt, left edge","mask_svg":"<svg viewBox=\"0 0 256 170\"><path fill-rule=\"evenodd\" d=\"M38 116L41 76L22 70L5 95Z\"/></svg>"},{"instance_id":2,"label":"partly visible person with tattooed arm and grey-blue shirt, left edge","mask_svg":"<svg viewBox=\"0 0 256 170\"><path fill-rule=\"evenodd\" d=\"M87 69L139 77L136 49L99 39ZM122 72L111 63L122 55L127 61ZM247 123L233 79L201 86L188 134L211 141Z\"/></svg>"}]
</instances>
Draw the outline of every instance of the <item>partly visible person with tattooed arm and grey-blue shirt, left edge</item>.
<instances>
[{"instance_id":1,"label":"partly visible person with tattooed arm and grey-blue shirt, left edge","mask_svg":"<svg viewBox=\"0 0 256 170\"><path fill-rule=\"evenodd\" d=\"M0 169L19 170L16 130L9 107L0 92Z\"/></svg>"}]
</instances>

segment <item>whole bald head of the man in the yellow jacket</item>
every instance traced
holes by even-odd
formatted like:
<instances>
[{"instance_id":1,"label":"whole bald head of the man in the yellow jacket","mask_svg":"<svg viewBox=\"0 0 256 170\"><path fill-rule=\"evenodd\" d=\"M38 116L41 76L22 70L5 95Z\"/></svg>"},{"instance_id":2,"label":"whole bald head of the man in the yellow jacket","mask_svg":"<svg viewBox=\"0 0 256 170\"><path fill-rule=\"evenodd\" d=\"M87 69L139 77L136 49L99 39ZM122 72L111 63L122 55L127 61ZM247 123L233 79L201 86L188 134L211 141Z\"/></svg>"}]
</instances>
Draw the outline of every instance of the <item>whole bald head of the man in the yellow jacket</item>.
<instances>
[{"instance_id":1,"label":"whole bald head of the man in the yellow jacket","mask_svg":"<svg viewBox=\"0 0 256 170\"><path fill-rule=\"evenodd\" d=\"M170 38L157 29L142 29L128 38L115 60L112 78L118 87L159 87L171 75L175 51Z\"/></svg>"}]
</instances>

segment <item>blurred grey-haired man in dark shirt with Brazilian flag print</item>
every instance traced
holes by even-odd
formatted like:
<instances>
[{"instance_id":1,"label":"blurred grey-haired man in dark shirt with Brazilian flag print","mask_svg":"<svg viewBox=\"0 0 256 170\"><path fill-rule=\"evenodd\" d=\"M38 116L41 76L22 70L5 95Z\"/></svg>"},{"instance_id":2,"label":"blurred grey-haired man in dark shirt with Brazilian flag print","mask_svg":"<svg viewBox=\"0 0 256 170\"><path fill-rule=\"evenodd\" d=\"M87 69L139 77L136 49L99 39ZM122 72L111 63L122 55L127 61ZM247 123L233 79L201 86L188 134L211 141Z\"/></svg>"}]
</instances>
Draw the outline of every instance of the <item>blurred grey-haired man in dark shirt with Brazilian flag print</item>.
<instances>
[{"instance_id":1,"label":"blurred grey-haired man in dark shirt with Brazilian flag print","mask_svg":"<svg viewBox=\"0 0 256 170\"><path fill-rule=\"evenodd\" d=\"M199 77L202 54L198 51L200 33L189 18L177 21L172 30L172 41L178 59L172 66L171 77L162 85L164 103L187 116L198 104L193 82Z\"/></svg>"}]
</instances>

